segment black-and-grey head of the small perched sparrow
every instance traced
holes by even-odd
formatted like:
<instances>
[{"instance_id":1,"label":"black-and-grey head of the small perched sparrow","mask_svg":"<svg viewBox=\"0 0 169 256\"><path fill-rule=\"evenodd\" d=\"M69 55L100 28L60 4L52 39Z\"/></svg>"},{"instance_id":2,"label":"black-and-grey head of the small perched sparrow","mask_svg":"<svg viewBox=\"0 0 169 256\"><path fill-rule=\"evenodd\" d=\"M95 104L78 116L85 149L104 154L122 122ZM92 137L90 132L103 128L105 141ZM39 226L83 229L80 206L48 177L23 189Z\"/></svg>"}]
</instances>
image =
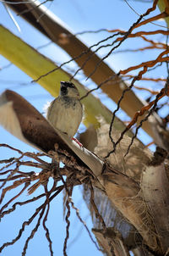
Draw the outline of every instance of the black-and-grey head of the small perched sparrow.
<instances>
[{"instance_id":1,"label":"black-and-grey head of the small perched sparrow","mask_svg":"<svg viewBox=\"0 0 169 256\"><path fill-rule=\"evenodd\" d=\"M79 98L79 91L71 81L61 81L60 95Z\"/></svg>"}]
</instances>

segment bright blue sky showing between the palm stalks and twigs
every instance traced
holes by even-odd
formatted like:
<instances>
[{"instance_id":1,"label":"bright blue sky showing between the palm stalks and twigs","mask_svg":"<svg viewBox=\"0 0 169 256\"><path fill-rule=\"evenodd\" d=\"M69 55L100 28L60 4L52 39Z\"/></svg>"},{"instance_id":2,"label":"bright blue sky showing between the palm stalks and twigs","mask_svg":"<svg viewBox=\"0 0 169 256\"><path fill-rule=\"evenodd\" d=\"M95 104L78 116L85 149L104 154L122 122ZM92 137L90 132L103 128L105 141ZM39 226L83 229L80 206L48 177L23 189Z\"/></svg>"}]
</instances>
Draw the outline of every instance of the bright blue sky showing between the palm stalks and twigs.
<instances>
[{"instance_id":1,"label":"bright blue sky showing between the palm stalks and twigs","mask_svg":"<svg viewBox=\"0 0 169 256\"><path fill-rule=\"evenodd\" d=\"M150 3L139 3L134 1L129 1L132 7L139 13L143 14L145 9L150 7ZM38 31L35 31L33 27L28 25L25 20L21 19L19 16L14 14L15 19L17 20L21 32L19 32L14 23L9 18L5 8L3 8L3 4L1 3L0 8L0 22L4 26L6 26L10 31L13 31L15 35L21 37L25 42L29 43L32 47L40 47L49 40L42 36ZM130 25L132 25L137 19L138 15L134 13L134 11L128 7L128 5L121 0L86 0L86 1L57 1L46 3L46 7L50 8L50 10L56 14L63 22L68 25L68 27L74 33L80 31L95 31L101 28L106 29L116 29L120 28L123 30L128 30ZM156 11L156 13L158 10ZM164 22L158 21L158 24L165 25ZM155 30L157 29L155 25L150 25L147 27L147 30ZM79 38L86 43L86 45L90 46L95 42L101 40L103 36L109 36L105 32L99 34L85 34L83 36L79 36ZM163 40L163 39L162 39ZM125 42L121 49L125 49L128 47L128 43ZM137 47L139 45L139 40L136 40L134 43L131 42L129 44L130 47ZM11 46L12 47L12 46ZM69 59L67 53L64 53L60 47L57 47L54 44L51 44L48 47L41 48L41 53L45 54L47 57L52 58L56 63L61 64L64 61ZM105 52L102 51L100 56L102 56ZM155 58L155 51L152 51L148 54L145 53L126 53L126 54L113 54L110 58L106 59L106 63L109 64L113 70L119 71L127 68L129 65L137 64L138 62L143 61L144 59ZM38 84L31 84L31 78L28 75L25 75L21 70L15 67L13 64L8 68L4 68L8 64L8 60L0 56L0 93L2 93L6 88L14 90L18 92L23 97L25 97L31 104L35 106L41 113L43 113L43 106L52 100L51 95L46 92L41 86ZM73 69L76 67L75 64L68 66ZM156 71L155 75L166 75L166 71L161 72L161 69ZM85 81L83 75L79 75L78 77L82 77L82 81ZM145 82L146 84L146 82ZM95 86L91 80L84 82L85 86ZM154 86L154 85L152 85ZM155 87L155 86L154 86ZM143 99L148 97L148 92L138 92L139 97ZM101 95L101 93L96 92L98 97L101 97L101 101L106 104L106 106L113 110L115 108L115 104L112 103L112 100L107 99L106 95ZM166 114L167 109L162 113ZM128 120L126 115L123 112L120 112L120 117L124 120ZM81 127L79 132L84 128ZM145 143L149 143L151 141L149 136L146 136L145 133L141 133L141 136ZM8 134L7 131L4 131L2 127L0 127L0 143L7 143L13 147L18 147L23 152L33 151L35 149L25 145L23 142L19 142L17 138ZM0 147L0 159L8 159L13 156L13 152L8 149ZM42 188L39 188L35 195L42 192ZM8 198L12 195L13 192L8 192ZM35 196L34 195L34 196ZM8 199L7 198L7 199ZM22 201L24 199L29 198L27 193L19 199ZM87 225L91 228L91 220L90 214L86 209L85 202L81 195L80 187L76 187L74 189L74 203L76 207L79 208L79 212L83 220L86 221ZM3 236L1 238L1 243L11 241L19 231L19 227L21 226L22 221L28 220L30 215L33 214L35 208L38 206L36 203L29 204L27 207L19 207L14 214L9 214L2 220L1 223L1 231ZM90 241L90 237L87 232L83 228L82 224L79 223L79 220L74 214L74 210L72 210L71 216L71 229L70 229L70 240L68 242L68 255L101 255L97 249L95 249L95 245ZM35 219L37 220L37 219ZM50 214L48 217L47 225L50 228L50 232L52 234L53 241L53 251L54 255L62 255L63 253L63 241L65 237L65 221L63 220L63 195L59 195L52 202ZM31 229L35 226L35 221L32 223L30 227L26 227L25 234L19 242L14 244L12 247L8 247L4 249L2 255L8 256L13 253L14 255L20 255L22 252L22 248L24 246L24 242L26 237L29 236ZM74 238L78 238L76 242ZM48 255L48 245L45 239L45 232L40 227L40 230L35 234L35 238L30 241L30 246L28 248L27 254L36 255L41 254Z\"/></svg>"}]
</instances>

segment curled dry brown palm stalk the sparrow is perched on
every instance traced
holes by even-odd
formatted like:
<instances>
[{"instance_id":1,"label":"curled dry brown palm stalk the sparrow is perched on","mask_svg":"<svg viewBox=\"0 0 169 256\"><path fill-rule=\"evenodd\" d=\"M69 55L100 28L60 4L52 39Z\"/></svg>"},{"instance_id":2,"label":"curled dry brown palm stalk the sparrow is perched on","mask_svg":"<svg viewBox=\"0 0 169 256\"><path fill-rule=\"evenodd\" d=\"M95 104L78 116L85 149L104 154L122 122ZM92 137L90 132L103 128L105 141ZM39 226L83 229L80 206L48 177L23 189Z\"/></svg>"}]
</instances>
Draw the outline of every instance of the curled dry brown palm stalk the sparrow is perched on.
<instances>
[{"instance_id":1,"label":"curled dry brown palm stalk the sparrow is perched on","mask_svg":"<svg viewBox=\"0 0 169 256\"><path fill-rule=\"evenodd\" d=\"M54 130L30 103L15 92L7 90L0 98L0 123L14 136L33 147L40 148L49 155L53 152L53 156L61 156L64 164L81 170L82 175L85 171L88 172L93 186L106 192L112 203L136 227L150 248L157 248L158 237L152 235L155 233L155 227L144 225L144 221L150 221L150 217L144 211L146 206L139 183L133 178L122 170L115 170L113 164L106 164L85 147L79 147L63 132ZM70 180L72 186L71 182Z\"/></svg>"}]
</instances>

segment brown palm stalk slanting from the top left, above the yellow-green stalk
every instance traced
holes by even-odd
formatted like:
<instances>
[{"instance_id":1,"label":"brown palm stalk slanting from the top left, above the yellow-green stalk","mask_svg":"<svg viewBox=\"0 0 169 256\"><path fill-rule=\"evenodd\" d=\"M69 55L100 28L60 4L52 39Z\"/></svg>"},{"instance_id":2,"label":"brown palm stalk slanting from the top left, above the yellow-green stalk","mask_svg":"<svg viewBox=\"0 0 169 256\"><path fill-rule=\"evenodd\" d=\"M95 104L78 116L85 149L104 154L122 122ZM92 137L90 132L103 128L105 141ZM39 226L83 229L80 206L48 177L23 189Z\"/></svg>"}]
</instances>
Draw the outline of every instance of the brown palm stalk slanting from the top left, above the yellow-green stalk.
<instances>
[{"instance_id":1,"label":"brown palm stalk slanting from the top left, above the yellow-green stalk","mask_svg":"<svg viewBox=\"0 0 169 256\"><path fill-rule=\"evenodd\" d=\"M9 2L16 3L17 0L10 0ZM87 61L83 68L85 75L89 76L91 70L95 70L96 64L101 62L101 58L99 58L91 51L91 47L86 47L84 43L80 42L79 39L74 36L73 33L71 33L71 31L68 31L68 29L66 29L62 22L57 18L57 16L52 14L44 6L38 7L38 4L39 3L37 1L30 1L29 4L25 4L23 1L23 3L17 5L8 3L8 6L13 8L14 11L18 14L25 9L34 8L29 13L21 14L21 16L30 22L31 25L34 25L36 29L50 38L52 42L56 42L60 47L62 47L71 56L72 60L74 59L76 61L79 67L85 63L86 58L92 55L92 58ZM148 9L146 14L149 14L155 9L155 4L156 1L153 7ZM41 17L41 19L39 19L39 17ZM39 19L38 22L37 19ZM108 38L109 37L110 36L108 36ZM108 38L106 38L106 40L108 40ZM45 75L47 71L48 70L44 71L41 75ZM106 81L107 78L112 77L112 75L115 75L112 81L108 81L104 86L101 87L101 89L108 95L108 97L111 97L112 100L117 103L119 97L121 97L123 93L123 89L127 88L128 86L123 81L119 80L116 73L110 69L110 67L105 62L101 62L100 66L95 71L95 74L92 75L92 80L95 82L95 84L100 85L101 82ZM37 75L36 78L33 79L37 79L39 76L40 75ZM39 82L41 83L41 80ZM112 86L114 90L112 90ZM143 106L144 104L139 100L138 97L135 96L134 92L132 91L128 92L128 98L124 98L121 104L121 108L130 117L133 117L134 113L141 109ZM148 122L144 123L143 129L148 132L150 136L153 136L151 127Z\"/></svg>"}]
</instances>

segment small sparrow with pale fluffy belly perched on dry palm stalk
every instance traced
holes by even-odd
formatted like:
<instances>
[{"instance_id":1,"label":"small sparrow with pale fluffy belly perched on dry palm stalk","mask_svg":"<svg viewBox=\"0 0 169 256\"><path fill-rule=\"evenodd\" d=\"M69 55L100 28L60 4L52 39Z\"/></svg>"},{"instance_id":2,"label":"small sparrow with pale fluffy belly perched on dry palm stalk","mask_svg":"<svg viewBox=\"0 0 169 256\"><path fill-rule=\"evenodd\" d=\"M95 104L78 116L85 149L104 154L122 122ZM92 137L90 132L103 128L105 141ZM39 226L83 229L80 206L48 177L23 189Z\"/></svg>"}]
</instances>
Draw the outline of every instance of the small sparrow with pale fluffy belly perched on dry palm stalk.
<instances>
[{"instance_id":1,"label":"small sparrow with pale fluffy belly perched on dry palm stalk","mask_svg":"<svg viewBox=\"0 0 169 256\"><path fill-rule=\"evenodd\" d=\"M47 109L46 118L54 128L73 137L78 131L83 117L83 107L79 101L76 86L69 81L61 81L60 95Z\"/></svg>"}]
</instances>

